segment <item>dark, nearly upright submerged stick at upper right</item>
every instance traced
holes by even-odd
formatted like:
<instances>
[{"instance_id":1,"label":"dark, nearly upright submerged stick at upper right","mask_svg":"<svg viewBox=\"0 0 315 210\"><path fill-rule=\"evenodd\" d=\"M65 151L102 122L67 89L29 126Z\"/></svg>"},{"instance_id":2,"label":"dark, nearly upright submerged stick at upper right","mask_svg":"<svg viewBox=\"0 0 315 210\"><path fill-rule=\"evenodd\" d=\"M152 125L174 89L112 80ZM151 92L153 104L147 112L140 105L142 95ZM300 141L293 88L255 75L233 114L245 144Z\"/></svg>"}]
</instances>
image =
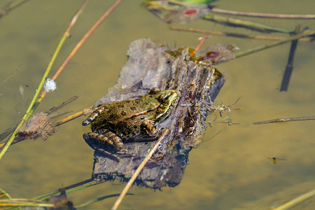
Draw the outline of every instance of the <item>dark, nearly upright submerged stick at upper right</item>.
<instances>
[{"instance_id":1,"label":"dark, nearly upright submerged stick at upper right","mask_svg":"<svg viewBox=\"0 0 315 210\"><path fill-rule=\"evenodd\" d=\"M300 30L301 30L301 26L299 25L295 29L296 34L299 34ZM295 39L291 42L290 53L289 53L289 57L288 57L288 63L286 64L286 70L283 73L280 92L288 90L288 84L290 82L291 74L293 71L293 60L294 60L295 50L297 48L297 42L298 42L297 39Z\"/></svg>"}]
</instances>

